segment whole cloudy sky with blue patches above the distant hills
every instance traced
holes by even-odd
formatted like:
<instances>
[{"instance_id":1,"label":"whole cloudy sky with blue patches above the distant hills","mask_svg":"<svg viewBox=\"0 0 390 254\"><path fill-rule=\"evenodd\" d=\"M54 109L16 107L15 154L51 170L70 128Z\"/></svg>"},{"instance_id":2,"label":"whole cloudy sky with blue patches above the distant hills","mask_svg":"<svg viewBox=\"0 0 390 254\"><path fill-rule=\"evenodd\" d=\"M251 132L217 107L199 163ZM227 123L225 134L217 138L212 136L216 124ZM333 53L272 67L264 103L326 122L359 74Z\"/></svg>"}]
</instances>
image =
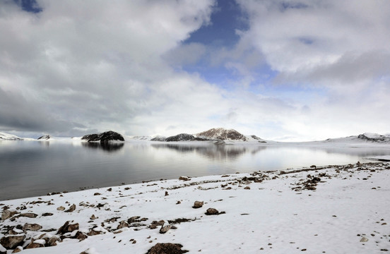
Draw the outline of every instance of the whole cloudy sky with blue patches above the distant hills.
<instances>
[{"instance_id":1,"label":"whole cloudy sky with blue patches above the distant hills","mask_svg":"<svg viewBox=\"0 0 390 254\"><path fill-rule=\"evenodd\" d=\"M0 131L390 133L388 0L0 0Z\"/></svg>"}]
</instances>

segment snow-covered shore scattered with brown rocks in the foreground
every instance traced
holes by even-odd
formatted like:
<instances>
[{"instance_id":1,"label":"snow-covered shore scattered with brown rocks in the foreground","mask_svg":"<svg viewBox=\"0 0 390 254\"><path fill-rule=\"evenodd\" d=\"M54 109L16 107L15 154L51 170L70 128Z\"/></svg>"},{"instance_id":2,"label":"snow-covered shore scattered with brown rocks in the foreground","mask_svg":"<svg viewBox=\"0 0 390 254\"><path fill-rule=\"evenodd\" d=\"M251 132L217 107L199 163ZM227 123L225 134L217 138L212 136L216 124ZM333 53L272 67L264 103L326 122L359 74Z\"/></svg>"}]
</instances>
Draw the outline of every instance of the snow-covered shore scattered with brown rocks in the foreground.
<instances>
[{"instance_id":1,"label":"snow-covered shore scattered with brown rocks in the foreground","mask_svg":"<svg viewBox=\"0 0 390 254\"><path fill-rule=\"evenodd\" d=\"M383 253L389 169L381 162L184 177L0 201L0 238L3 246L23 238L23 253L147 253L156 243L189 253Z\"/></svg>"}]
</instances>

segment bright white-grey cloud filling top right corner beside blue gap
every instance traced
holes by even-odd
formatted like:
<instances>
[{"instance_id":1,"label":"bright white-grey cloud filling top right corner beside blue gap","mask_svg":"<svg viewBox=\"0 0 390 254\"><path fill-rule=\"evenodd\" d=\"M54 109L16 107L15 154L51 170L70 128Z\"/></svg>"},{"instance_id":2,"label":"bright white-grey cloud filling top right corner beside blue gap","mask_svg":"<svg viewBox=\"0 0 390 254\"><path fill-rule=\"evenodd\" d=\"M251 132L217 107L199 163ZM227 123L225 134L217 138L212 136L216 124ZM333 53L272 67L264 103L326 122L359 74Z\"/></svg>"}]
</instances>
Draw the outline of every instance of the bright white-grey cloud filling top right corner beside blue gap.
<instances>
[{"instance_id":1,"label":"bright white-grey cloud filling top right corner beside blue gap","mask_svg":"<svg viewBox=\"0 0 390 254\"><path fill-rule=\"evenodd\" d=\"M273 70L294 74L390 51L387 1L240 1L252 39ZM375 61L374 58L371 61ZM379 59L379 64L382 59Z\"/></svg>"}]
</instances>

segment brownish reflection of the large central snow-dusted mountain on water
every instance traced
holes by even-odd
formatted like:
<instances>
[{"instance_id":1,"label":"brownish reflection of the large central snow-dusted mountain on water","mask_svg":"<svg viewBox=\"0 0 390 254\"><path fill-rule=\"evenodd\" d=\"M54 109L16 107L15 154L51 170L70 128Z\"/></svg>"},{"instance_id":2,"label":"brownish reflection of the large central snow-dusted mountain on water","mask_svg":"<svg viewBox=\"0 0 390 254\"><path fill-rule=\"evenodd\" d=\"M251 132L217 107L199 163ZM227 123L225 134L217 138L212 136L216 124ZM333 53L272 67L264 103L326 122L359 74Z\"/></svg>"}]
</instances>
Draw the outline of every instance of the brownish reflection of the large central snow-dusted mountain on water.
<instances>
[{"instance_id":1,"label":"brownish reflection of the large central snow-dusted mountain on water","mask_svg":"<svg viewBox=\"0 0 390 254\"><path fill-rule=\"evenodd\" d=\"M260 150L265 150L265 146L240 146L240 145L179 145L179 144L153 144L153 148L156 149L170 149L179 153L194 152L197 155L206 157L207 159L225 160L225 159L237 159L241 155L247 152L251 152L252 155L256 154Z\"/></svg>"}]
</instances>

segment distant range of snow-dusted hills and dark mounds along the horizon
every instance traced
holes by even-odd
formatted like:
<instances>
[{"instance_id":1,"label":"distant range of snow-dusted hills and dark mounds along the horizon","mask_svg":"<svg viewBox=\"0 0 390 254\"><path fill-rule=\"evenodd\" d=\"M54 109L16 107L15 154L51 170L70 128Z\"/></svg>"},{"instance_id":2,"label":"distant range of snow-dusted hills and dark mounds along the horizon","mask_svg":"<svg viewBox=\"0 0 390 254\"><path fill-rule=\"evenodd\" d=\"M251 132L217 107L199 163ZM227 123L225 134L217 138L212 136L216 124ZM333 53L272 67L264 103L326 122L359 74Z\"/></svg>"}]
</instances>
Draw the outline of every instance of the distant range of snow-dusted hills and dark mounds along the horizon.
<instances>
[{"instance_id":1,"label":"distant range of snow-dusted hills and dark mounds along the horizon","mask_svg":"<svg viewBox=\"0 0 390 254\"><path fill-rule=\"evenodd\" d=\"M43 135L37 140L64 140L69 138L53 138L50 135ZM85 140L88 142L107 143L109 141L124 141L125 138L114 131L106 131L98 134L84 135L82 138L72 138L73 140ZM16 135L1 133L0 140L35 140L32 138L20 138ZM126 140L144 140L144 141L159 141L159 142L177 142L177 141L213 141L213 143L276 143L271 140L264 140L256 135L243 135L233 129L211 128L208 131L203 131L196 134L180 133L170 137L161 135L156 136L127 136ZM346 138L329 138L321 143L389 143L390 134L379 135L377 133L363 133L353 135Z\"/></svg>"}]
</instances>

